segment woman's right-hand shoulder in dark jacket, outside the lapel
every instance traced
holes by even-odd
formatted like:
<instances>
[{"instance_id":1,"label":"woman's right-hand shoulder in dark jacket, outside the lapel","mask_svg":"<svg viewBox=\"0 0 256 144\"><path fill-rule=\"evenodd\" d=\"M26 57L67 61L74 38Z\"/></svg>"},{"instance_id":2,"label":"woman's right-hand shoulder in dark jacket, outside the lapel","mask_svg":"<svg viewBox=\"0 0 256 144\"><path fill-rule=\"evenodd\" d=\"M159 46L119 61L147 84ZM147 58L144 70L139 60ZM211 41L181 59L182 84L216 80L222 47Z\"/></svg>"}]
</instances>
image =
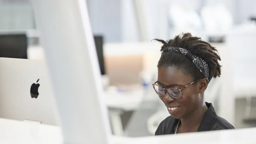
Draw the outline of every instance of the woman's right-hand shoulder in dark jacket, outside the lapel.
<instances>
[{"instance_id":1,"label":"woman's right-hand shoulder in dark jacket, outside the lapel","mask_svg":"<svg viewBox=\"0 0 256 144\"><path fill-rule=\"evenodd\" d=\"M227 120L216 115L216 117L213 119L210 129L211 130L225 130L225 129L235 129L235 128Z\"/></svg>"}]
</instances>

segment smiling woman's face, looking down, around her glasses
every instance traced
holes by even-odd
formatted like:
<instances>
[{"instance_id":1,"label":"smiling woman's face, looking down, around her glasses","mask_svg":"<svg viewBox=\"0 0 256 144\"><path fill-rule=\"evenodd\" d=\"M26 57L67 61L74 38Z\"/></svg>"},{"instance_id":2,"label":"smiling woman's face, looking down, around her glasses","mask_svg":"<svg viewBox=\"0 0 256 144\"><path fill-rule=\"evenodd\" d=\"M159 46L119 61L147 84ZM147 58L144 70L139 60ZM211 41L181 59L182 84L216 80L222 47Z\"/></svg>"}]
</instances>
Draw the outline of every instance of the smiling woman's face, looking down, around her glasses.
<instances>
[{"instance_id":1,"label":"smiling woman's face, looking down, around her glasses","mask_svg":"<svg viewBox=\"0 0 256 144\"><path fill-rule=\"evenodd\" d=\"M191 76L184 75L181 70L175 67L160 66L158 69L158 84L162 87L179 87L182 88L190 82L194 81ZM189 116L200 104L199 85L192 84L182 90L182 98L174 99L168 92L163 97L159 98L165 104L168 112L173 118L181 119ZM172 110L169 108L177 107Z\"/></svg>"}]
</instances>

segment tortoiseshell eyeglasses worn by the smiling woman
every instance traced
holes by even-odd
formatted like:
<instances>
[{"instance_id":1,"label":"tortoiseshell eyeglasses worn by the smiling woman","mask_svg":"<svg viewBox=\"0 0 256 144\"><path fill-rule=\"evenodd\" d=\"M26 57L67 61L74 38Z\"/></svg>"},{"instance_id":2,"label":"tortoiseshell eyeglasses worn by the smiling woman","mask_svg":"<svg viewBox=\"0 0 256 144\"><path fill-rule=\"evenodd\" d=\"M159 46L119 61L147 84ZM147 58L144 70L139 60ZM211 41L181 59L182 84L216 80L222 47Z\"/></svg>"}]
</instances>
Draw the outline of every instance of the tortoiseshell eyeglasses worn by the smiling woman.
<instances>
[{"instance_id":1,"label":"tortoiseshell eyeglasses worn by the smiling woman","mask_svg":"<svg viewBox=\"0 0 256 144\"><path fill-rule=\"evenodd\" d=\"M199 80L199 79L198 79ZM165 88L165 87L162 87L161 85L159 84L156 84L157 81L152 84L155 92L160 96L160 97L163 97L166 93L166 91L168 92L168 94L173 97L174 99L181 99L182 97L182 93L181 91L183 89L185 89L186 87L190 86L191 84L195 83L196 81L198 80L195 80L195 81L192 81L190 82L189 84L187 84L186 86L182 87L182 88L178 88L178 87L170 87L170 88Z\"/></svg>"}]
</instances>

